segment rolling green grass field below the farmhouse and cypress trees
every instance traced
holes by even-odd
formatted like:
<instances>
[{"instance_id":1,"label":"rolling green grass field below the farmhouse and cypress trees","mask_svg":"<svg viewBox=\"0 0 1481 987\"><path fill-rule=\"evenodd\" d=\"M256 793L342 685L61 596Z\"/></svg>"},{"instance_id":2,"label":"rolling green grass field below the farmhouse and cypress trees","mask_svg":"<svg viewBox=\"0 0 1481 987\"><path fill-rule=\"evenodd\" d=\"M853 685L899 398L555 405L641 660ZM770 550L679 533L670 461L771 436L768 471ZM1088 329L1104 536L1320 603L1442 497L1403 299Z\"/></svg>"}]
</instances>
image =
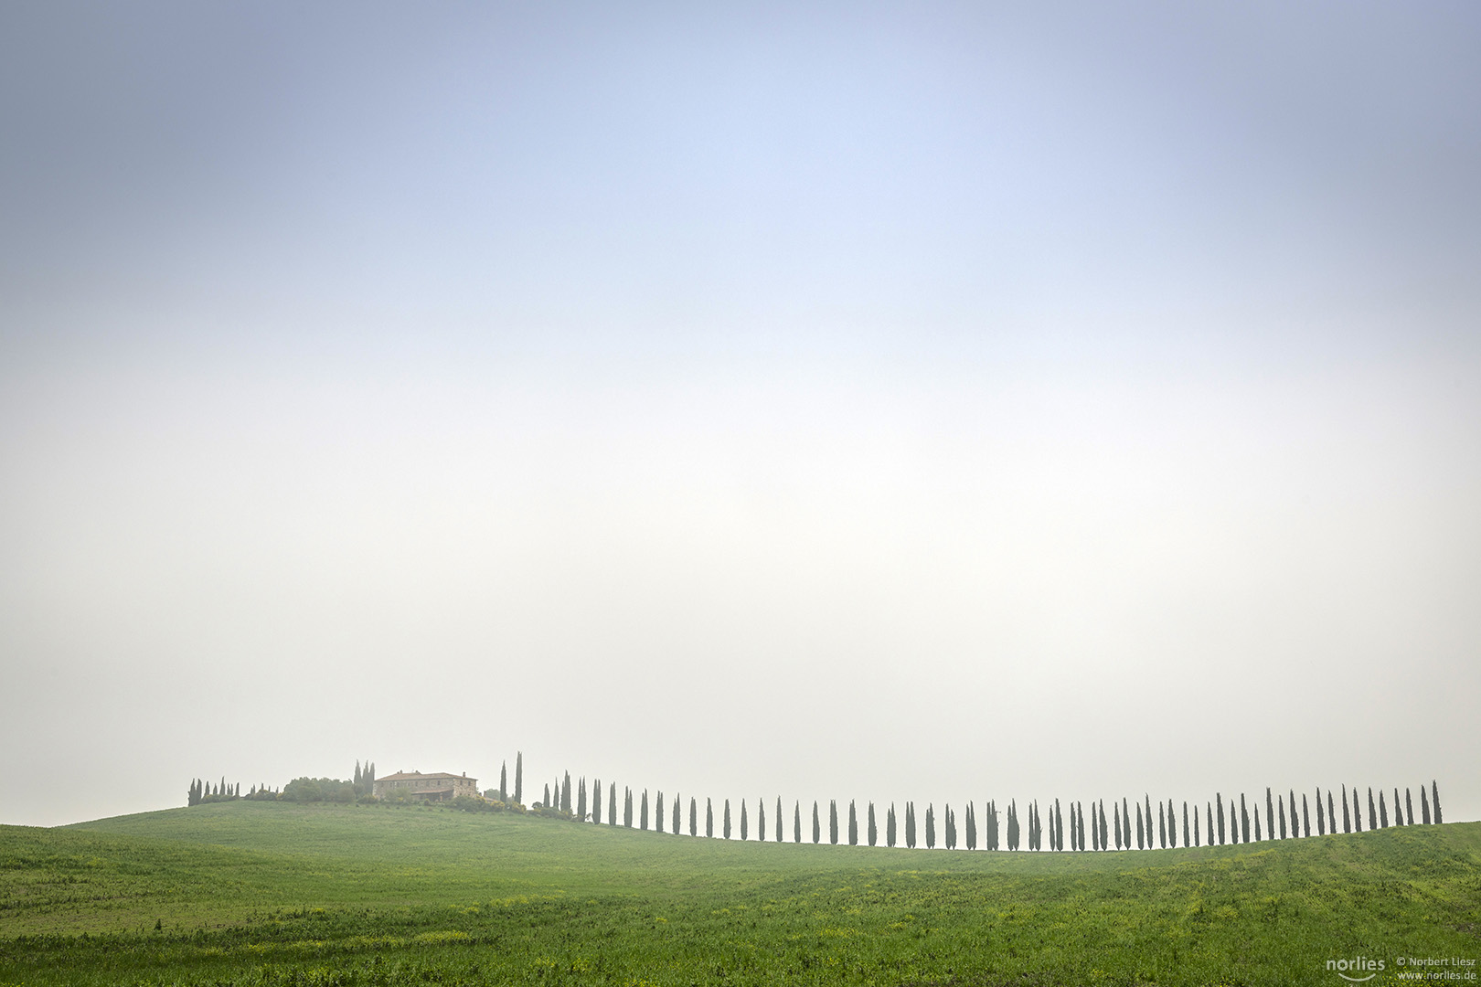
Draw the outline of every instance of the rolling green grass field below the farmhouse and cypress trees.
<instances>
[{"instance_id":1,"label":"rolling green grass field below the farmhouse and cypress trees","mask_svg":"<svg viewBox=\"0 0 1481 987\"><path fill-rule=\"evenodd\" d=\"M1481 823L1109 854L273 802L0 827L0 986L1339 987L1357 956L1481 957Z\"/></svg>"}]
</instances>

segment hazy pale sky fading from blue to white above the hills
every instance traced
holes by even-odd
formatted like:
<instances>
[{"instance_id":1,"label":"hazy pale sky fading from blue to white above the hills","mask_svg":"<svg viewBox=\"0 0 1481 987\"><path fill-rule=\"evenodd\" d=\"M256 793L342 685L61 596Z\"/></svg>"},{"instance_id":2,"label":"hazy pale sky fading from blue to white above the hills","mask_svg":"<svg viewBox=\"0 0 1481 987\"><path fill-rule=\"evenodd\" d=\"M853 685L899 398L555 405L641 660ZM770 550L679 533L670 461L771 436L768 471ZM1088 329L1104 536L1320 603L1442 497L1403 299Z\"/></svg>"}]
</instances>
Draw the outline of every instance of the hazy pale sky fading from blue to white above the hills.
<instances>
[{"instance_id":1,"label":"hazy pale sky fading from blue to white above the hills","mask_svg":"<svg viewBox=\"0 0 1481 987\"><path fill-rule=\"evenodd\" d=\"M0 823L515 752L526 801L1481 818L1478 47L6 4Z\"/></svg>"}]
</instances>

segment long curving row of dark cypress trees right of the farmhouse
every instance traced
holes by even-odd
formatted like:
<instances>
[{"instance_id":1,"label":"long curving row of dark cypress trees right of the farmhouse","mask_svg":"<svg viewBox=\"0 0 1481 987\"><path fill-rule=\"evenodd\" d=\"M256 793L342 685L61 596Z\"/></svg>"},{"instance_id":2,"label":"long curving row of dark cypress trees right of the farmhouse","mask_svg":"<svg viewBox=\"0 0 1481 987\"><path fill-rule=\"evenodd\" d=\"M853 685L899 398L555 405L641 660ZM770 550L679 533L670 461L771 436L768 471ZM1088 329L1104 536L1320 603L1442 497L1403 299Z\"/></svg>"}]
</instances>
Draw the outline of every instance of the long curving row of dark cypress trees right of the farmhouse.
<instances>
[{"instance_id":1,"label":"long curving row of dark cypress trees right of the farmhouse","mask_svg":"<svg viewBox=\"0 0 1481 987\"><path fill-rule=\"evenodd\" d=\"M523 756L515 761L515 792L518 792L521 765ZM501 771L501 792L504 792L504 771ZM588 795L586 780L578 778L573 790L570 772L567 771L563 777L557 777L554 784L545 786L545 801L542 805L544 808L560 809L578 821L591 821L598 826L606 823L609 826L625 826L629 829L655 829L658 832L671 832L675 836L684 830L683 804L677 795L674 796L672 804L668 805L663 792L658 792L650 802L647 789L644 789L640 795L635 795L631 787L624 787L621 817L618 811L618 786L615 783L609 781L606 784L606 812L603 812L601 780L592 780ZM637 799L637 802L634 802L634 799ZM1444 821L1440 806L1440 786L1437 781L1431 781L1428 790L1425 786L1420 786L1419 802L1420 818L1416 820L1411 790L1405 789L1401 801L1400 792L1395 787L1391 823L1386 793L1380 789L1377 792L1377 798L1374 799L1373 789L1370 787L1367 790L1367 829L1383 829L1391 824L1438 824ZM1312 812L1312 804L1315 804L1315 812ZM946 805L942 815L937 817L935 805L927 804L924 827L921 827L917 821L915 804L906 802L903 811L903 826L900 824L902 820L896 814L896 806L893 804L886 811L884 845L896 846L897 839L903 836L905 846L914 848L918 845L920 838L924 838L926 846L933 849L937 843L937 818L940 821L942 842L946 849L955 849L960 845L958 841L961 838L964 838L966 849L977 849L980 843L982 849L994 851L1103 851L1131 849L1133 845L1137 849L1151 849L1157 846L1167 848L1179 845L1213 846L1216 843L1247 843L1251 842L1251 821L1254 841L1311 836L1312 815L1315 815L1318 836L1324 836L1328 832L1336 833L1339 832L1339 804L1342 806L1340 832L1361 833L1364 829L1363 801L1355 787L1352 789L1349 799L1346 786L1342 786L1340 798L1330 789L1325 792L1325 799L1323 798L1321 789L1315 790L1314 799L1308 799L1306 795L1302 795L1299 811L1294 790L1274 793L1271 789L1266 789L1263 826L1260 824L1259 804L1254 805L1251 812L1248 799L1244 793L1240 793L1238 806L1235 806L1234 798L1229 798L1228 812L1225 809L1223 793L1216 795L1211 802L1207 802L1203 814L1200 814L1197 804L1194 804L1189 809L1189 804L1183 802L1182 812L1179 815L1177 805L1173 799L1169 799L1167 802L1157 802L1155 832L1152 829L1154 811L1149 795L1134 804L1127 799L1121 799L1118 804L1112 799L1109 815L1106 814L1105 801L1091 801L1089 818L1084 804L1069 802L1068 820L1059 799L1054 799L1053 804L1046 804L1043 809L1037 801L1029 802L1025 805L1023 817L1019 814L1016 799L1009 802L1006 811L1000 811L995 801L988 801L983 804L983 820L980 826L976 808L972 802L969 802L964 811L964 832L958 830L957 812L949 805ZM637 808L634 808L635 805ZM665 814L666 805L668 812ZM769 830L766 808L764 801L757 801L754 833L758 841L767 839ZM696 796L690 796L689 799L687 817L689 835L699 836L699 801ZM736 821L738 826L735 826ZM772 839L775 842L785 842L785 817L780 798L776 799L772 821ZM1182 824L1180 843L1179 821ZM849 802L846 826L847 829L843 829L840 824L838 802L829 801L828 842L838 843L840 839L846 839L850 846L859 843L859 811L853 801ZM736 829L739 829L740 839L746 841L752 838L749 805L745 801L740 802L739 818L736 820L732 814L730 799L724 799L721 806L720 835L724 839L732 839ZM801 801L797 801L792 805L791 829L792 842L804 842ZM902 829L903 833L900 833ZM924 832L920 832L921 829ZM705 799L703 835L709 838L715 836L715 806L709 798ZM813 843L822 842L823 823L819 802L813 802L810 835ZM878 845L880 827L874 802L869 802L866 806L863 838L869 846Z\"/></svg>"}]
</instances>

